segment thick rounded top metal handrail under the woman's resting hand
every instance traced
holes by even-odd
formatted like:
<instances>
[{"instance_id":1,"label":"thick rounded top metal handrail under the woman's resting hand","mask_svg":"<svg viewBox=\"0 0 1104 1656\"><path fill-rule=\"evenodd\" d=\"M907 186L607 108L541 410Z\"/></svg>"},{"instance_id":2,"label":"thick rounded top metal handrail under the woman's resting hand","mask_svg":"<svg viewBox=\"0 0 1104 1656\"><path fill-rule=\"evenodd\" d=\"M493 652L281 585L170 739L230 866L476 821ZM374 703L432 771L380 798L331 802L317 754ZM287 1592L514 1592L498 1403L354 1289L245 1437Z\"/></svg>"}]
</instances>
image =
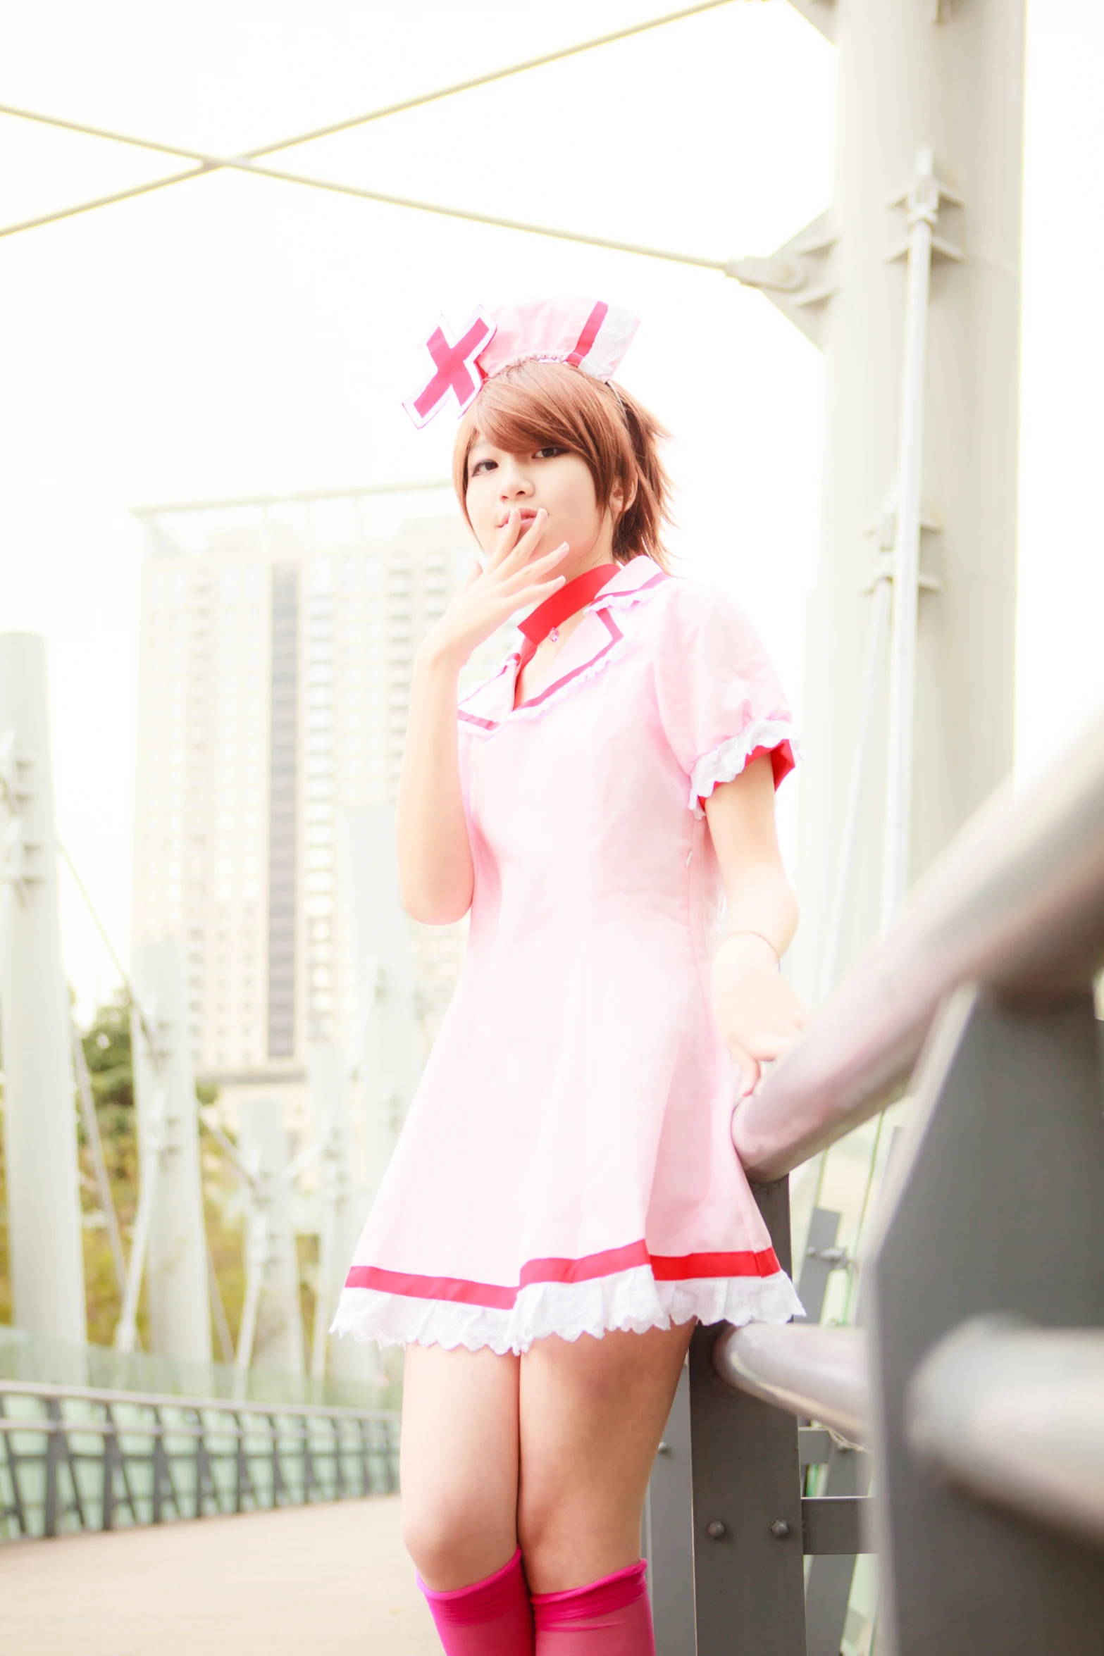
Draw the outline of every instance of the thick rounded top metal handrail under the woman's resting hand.
<instances>
[{"instance_id":1,"label":"thick rounded top metal handrail under the woman's resting hand","mask_svg":"<svg viewBox=\"0 0 1104 1656\"><path fill-rule=\"evenodd\" d=\"M735 1111L751 1179L780 1179L876 1114L943 999L1049 999L1104 962L1104 719L963 828L803 1040Z\"/></svg>"}]
</instances>

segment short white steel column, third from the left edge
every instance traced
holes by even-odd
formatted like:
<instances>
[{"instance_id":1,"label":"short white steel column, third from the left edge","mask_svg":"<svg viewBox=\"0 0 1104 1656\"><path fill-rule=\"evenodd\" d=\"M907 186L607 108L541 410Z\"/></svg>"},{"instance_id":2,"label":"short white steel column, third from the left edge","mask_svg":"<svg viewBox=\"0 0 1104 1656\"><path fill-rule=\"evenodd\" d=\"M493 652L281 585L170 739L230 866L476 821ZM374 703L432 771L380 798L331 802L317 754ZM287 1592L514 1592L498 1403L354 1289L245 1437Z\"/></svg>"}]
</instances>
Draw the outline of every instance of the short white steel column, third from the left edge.
<instances>
[{"instance_id":1,"label":"short white steel column, third from the left edge","mask_svg":"<svg viewBox=\"0 0 1104 1656\"><path fill-rule=\"evenodd\" d=\"M237 1361L245 1368L301 1374L303 1310L283 1106L278 1098L243 1098L238 1121L238 1146L252 1176L247 1280L248 1288L257 1288L257 1310L248 1340L245 1331L238 1335Z\"/></svg>"}]
</instances>

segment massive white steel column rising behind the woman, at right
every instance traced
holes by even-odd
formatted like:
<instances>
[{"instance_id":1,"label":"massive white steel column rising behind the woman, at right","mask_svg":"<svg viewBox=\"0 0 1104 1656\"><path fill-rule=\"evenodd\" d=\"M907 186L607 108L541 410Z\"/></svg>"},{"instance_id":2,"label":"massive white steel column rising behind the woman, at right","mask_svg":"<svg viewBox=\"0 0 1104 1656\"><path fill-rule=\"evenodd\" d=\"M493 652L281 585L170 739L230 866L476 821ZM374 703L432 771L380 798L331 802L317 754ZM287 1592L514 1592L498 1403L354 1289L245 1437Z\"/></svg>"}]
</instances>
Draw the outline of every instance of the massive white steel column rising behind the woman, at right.
<instances>
[{"instance_id":1,"label":"massive white steel column rising behind the woman, at right","mask_svg":"<svg viewBox=\"0 0 1104 1656\"><path fill-rule=\"evenodd\" d=\"M869 947L884 889L895 901L1011 768L1025 0L803 0L799 10L838 48L833 209L775 260L743 262L733 273L768 290L775 283L770 296L826 358L823 545L803 712L803 921L794 946L799 985L816 997L833 952L846 970ZM894 258L907 230L902 190L924 149L935 176L962 199L962 207L940 207L925 305L917 262L910 283ZM912 233L930 233L924 215ZM965 258L940 258L938 242L960 243ZM920 306L927 349L912 349L905 368L907 313L915 341ZM905 406L914 416L907 431ZM834 947L876 601L869 533L894 484L894 546L922 578L915 621L909 593L897 606L902 667L915 641L915 705L910 714L900 671L890 851L884 858L886 692L869 734L856 878ZM938 532L922 535L922 520L937 522ZM924 591L927 576L938 591Z\"/></svg>"}]
</instances>

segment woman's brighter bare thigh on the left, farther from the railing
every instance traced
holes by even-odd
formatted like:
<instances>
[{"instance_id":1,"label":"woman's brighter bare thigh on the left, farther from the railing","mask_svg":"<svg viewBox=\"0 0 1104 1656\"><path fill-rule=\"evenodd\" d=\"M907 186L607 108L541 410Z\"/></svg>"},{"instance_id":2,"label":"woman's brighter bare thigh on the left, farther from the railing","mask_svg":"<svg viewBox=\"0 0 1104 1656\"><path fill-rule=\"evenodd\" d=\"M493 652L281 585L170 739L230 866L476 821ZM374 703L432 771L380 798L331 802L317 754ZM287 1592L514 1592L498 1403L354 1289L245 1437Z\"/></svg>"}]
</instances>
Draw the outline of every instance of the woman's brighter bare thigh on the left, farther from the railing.
<instances>
[{"instance_id":1,"label":"woman's brighter bare thigh on the left, farther from the railing","mask_svg":"<svg viewBox=\"0 0 1104 1656\"><path fill-rule=\"evenodd\" d=\"M427 1586L480 1581L518 1545L518 1358L407 1346L402 1537Z\"/></svg>"}]
</instances>

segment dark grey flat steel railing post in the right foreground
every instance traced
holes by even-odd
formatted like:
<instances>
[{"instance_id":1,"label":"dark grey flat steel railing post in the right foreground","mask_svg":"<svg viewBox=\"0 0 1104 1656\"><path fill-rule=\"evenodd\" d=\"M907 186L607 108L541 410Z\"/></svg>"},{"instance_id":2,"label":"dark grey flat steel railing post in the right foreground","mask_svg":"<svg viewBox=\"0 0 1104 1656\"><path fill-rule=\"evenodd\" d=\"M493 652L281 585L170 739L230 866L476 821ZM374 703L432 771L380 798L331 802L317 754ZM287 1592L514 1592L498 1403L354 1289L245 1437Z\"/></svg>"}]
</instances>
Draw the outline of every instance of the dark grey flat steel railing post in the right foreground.
<instances>
[{"instance_id":1,"label":"dark grey flat steel railing post in the right foreground","mask_svg":"<svg viewBox=\"0 0 1104 1656\"><path fill-rule=\"evenodd\" d=\"M1101 1259L1104 1118L1091 992L1018 1010L960 992L920 1068L864 1270L887 1656L1097 1656L1099 1553L947 1487L909 1446L907 1398L920 1365L967 1318L1099 1330ZM1076 1418L1064 1429L1076 1432ZM1013 1434L1001 1452L1011 1485Z\"/></svg>"}]
</instances>

